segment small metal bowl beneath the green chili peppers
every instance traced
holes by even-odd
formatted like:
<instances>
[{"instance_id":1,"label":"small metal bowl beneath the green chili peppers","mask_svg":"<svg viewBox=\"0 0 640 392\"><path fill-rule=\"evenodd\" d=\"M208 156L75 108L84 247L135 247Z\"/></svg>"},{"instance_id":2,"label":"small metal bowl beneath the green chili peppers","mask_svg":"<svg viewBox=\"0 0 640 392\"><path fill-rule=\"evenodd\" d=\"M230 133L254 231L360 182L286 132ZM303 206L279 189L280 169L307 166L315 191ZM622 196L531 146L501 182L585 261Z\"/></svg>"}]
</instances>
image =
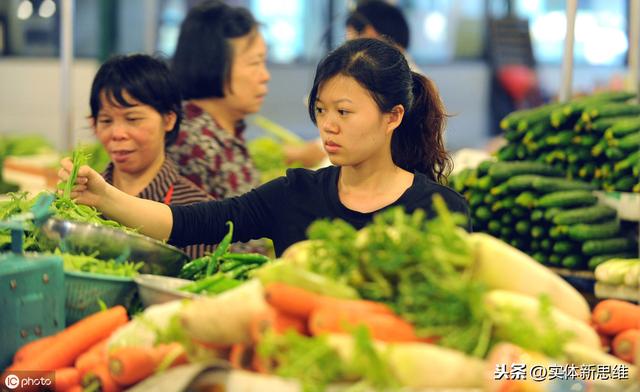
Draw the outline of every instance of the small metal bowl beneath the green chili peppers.
<instances>
[{"instance_id":1,"label":"small metal bowl beneath the green chili peppers","mask_svg":"<svg viewBox=\"0 0 640 392\"><path fill-rule=\"evenodd\" d=\"M148 274L140 274L133 280L138 284L138 292L145 307L198 296L178 290L186 284L193 283L191 280Z\"/></svg>"}]
</instances>

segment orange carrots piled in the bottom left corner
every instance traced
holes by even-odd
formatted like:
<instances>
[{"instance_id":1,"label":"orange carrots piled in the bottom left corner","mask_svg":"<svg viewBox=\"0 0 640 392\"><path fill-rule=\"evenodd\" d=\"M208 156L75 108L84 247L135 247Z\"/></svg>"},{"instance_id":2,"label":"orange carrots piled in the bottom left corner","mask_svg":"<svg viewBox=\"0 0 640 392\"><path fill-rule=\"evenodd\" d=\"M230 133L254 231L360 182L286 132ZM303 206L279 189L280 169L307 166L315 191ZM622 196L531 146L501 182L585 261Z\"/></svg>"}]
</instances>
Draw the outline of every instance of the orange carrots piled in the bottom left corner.
<instances>
[{"instance_id":1,"label":"orange carrots piled in the bottom left corner","mask_svg":"<svg viewBox=\"0 0 640 392\"><path fill-rule=\"evenodd\" d=\"M187 361L179 343L108 351L109 337L127 322L122 306L95 313L56 335L21 347L7 372L52 371L56 391L116 392L151 376L160 367Z\"/></svg>"}]
</instances>

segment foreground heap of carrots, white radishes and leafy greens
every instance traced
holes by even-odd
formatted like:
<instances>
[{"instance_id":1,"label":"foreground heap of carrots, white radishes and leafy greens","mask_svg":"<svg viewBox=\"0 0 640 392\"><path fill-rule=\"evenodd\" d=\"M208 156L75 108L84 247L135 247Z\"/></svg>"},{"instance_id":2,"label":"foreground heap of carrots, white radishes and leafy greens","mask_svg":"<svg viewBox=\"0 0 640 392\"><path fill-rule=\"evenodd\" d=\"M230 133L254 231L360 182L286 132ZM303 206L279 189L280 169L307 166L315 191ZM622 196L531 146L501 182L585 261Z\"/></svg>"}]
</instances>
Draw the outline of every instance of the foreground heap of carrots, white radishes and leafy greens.
<instances>
[{"instance_id":1,"label":"foreground heap of carrots, white radishes and leafy greens","mask_svg":"<svg viewBox=\"0 0 640 392\"><path fill-rule=\"evenodd\" d=\"M131 319L121 306L94 313L25 345L8 370L55 370L55 382L103 390L158 390L180 372L183 386L197 378L246 390L622 390L633 383L636 368L602 350L579 293L510 245L464 232L441 200L436 205L431 221L390 210L359 231L316 222L309 241L255 265L247 280ZM227 254L183 273L207 281L234 261ZM514 364L556 362L607 365L621 379L586 379L586 368L567 380L505 376Z\"/></svg>"}]
</instances>

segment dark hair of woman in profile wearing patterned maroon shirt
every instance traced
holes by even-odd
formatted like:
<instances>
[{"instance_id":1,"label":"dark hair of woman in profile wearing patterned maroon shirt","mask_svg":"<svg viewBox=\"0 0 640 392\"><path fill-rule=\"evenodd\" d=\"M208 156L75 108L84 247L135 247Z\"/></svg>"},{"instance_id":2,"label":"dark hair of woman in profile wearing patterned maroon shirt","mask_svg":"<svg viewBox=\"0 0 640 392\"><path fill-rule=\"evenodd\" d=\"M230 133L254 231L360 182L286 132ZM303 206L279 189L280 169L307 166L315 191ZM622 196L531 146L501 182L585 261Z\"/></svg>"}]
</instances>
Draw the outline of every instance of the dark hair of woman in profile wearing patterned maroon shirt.
<instances>
[{"instance_id":1,"label":"dark hair of woman in profile wearing patterned maroon shirt","mask_svg":"<svg viewBox=\"0 0 640 392\"><path fill-rule=\"evenodd\" d=\"M256 31L257 25L246 8L219 0L192 8L180 27L172 61L183 98L224 97L233 62L229 39L246 36Z\"/></svg>"}]
</instances>

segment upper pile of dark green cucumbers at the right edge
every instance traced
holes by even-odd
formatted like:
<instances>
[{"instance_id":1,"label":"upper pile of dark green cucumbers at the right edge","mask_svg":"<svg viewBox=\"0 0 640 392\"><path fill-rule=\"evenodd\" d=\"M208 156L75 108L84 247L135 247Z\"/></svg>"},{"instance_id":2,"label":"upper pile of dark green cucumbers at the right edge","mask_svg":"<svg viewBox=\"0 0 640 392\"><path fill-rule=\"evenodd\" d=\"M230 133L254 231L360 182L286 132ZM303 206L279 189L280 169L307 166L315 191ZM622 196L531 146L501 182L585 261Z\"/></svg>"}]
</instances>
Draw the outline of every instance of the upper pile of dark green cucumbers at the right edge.
<instances>
[{"instance_id":1,"label":"upper pile of dark green cucumbers at the right edge","mask_svg":"<svg viewBox=\"0 0 640 392\"><path fill-rule=\"evenodd\" d=\"M640 192L640 105L606 92L513 112L500 123L500 161L533 160L598 189Z\"/></svg>"}]
</instances>

